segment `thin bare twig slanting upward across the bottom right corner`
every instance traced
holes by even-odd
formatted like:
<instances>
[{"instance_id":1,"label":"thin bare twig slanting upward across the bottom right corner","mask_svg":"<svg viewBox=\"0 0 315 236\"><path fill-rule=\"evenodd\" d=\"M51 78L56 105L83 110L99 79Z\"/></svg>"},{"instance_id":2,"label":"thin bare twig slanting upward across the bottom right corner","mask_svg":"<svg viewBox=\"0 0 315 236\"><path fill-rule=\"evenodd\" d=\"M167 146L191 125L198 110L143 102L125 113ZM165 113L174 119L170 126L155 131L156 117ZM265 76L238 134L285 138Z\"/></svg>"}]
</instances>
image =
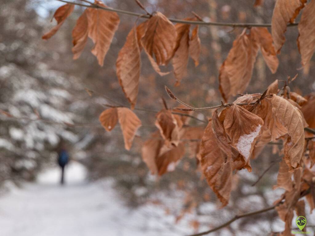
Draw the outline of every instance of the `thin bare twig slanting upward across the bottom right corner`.
<instances>
[{"instance_id":1,"label":"thin bare twig slanting upward across the bottom right corner","mask_svg":"<svg viewBox=\"0 0 315 236\"><path fill-rule=\"evenodd\" d=\"M307 189L307 190L305 190L305 191L303 191L303 192L301 193L301 195L300 195L300 198L304 197L305 195L307 195L307 194L309 194L309 193L310 193L310 188ZM258 210L258 211L251 211L251 212L248 212L248 213L244 213L244 214L242 214L242 215L236 215L236 216L234 216L231 220L229 220L229 221L227 221L227 222L225 222L225 223L219 225L219 226L216 227L216 228L213 228L213 229L210 229L210 230L208 230L208 231L201 232L201 233L190 234L190 235L187 235L187 236L201 236L201 235L205 235L205 234L208 234L208 233L215 232L215 231L217 231L217 230L219 230L219 229L221 229L221 228L224 228L224 227L230 225L232 222L234 222L234 221L236 221L236 220L238 220L238 219L240 219L240 218L244 218L244 217L248 217L248 216L254 216L254 215L258 215L258 214L260 214L260 213L266 212L266 211L273 210L275 207L277 207L278 205L283 204L283 203L284 203L284 201L281 201L281 202L279 202L279 203L276 204L276 205L272 205L272 206L263 208L263 209Z\"/></svg>"}]
</instances>

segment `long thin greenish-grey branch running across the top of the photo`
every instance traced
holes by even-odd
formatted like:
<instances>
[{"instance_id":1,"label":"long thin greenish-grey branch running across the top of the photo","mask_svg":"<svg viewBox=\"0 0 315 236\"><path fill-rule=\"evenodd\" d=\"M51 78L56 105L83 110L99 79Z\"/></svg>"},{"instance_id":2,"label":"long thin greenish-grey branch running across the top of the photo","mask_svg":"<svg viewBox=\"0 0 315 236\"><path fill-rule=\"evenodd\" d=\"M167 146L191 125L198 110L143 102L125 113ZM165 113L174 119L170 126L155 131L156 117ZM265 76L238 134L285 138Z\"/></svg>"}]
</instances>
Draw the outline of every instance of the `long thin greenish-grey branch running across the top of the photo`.
<instances>
[{"instance_id":1,"label":"long thin greenish-grey branch running across the top of the photo","mask_svg":"<svg viewBox=\"0 0 315 236\"><path fill-rule=\"evenodd\" d=\"M131 12L131 11L125 11L125 10L120 10L120 9L114 9L114 8L106 8L103 6L99 6L96 4L92 4L92 5L86 5L86 4L81 4L81 3L74 3L74 2L70 2L70 1L65 1L65 0L56 0L59 2L63 2L63 3L69 3L69 4L73 4L73 5L78 5L78 6L83 6L83 7L89 7L89 8L99 8L102 10L106 10L106 11L113 11L113 12L117 12L117 13L121 13L121 14L126 14L126 15L133 15L133 16L137 16L137 17L141 17L141 18L150 18L150 15L143 15L140 13L136 13L136 12ZM174 23L183 23L183 24L190 24L190 25L210 25L210 26L231 26L231 27L242 27L242 28L246 28L246 27L271 27L271 24L256 24L256 23L224 23L224 22L204 22L204 21L194 21L194 20L180 20L180 19L173 19L173 18L169 18L170 21L174 22ZM299 23L291 23L288 24L287 26L297 26Z\"/></svg>"}]
</instances>

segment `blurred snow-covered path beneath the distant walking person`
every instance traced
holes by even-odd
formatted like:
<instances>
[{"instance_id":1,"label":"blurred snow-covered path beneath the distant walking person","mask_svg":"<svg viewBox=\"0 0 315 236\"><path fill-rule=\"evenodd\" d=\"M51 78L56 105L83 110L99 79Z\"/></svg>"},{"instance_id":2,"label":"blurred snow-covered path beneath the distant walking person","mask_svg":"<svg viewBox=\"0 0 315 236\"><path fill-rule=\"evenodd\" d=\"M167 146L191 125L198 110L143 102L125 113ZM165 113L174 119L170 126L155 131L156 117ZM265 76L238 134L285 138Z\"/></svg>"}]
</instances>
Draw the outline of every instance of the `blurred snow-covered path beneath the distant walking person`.
<instances>
[{"instance_id":1,"label":"blurred snow-covered path beneath the distant walking person","mask_svg":"<svg viewBox=\"0 0 315 236\"><path fill-rule=\"evenodd\" d=\"M39 175L37 183L11 188L0 196L0 235L180 235L176 229L165 229L164 220L174 221L167 219L163 210L130 211L119 200L111 181L87 183L85 169L78 163L69 166L65 186L58 182L56 167ZM162 222L146 215L152 210Z\"/></svg>"}]
</instances>

